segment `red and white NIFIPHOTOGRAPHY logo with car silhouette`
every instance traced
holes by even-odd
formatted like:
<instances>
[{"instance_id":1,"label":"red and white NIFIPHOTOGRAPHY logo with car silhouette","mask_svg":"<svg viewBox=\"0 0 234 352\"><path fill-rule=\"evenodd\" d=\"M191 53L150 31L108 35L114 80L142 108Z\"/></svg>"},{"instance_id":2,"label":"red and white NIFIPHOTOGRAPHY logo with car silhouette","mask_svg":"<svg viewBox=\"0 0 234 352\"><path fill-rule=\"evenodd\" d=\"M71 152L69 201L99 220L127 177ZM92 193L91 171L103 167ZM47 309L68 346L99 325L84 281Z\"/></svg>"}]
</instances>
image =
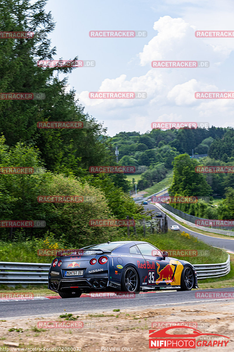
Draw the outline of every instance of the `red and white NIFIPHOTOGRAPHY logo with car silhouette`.
<instances>
[{"instance_id":1,"label":"red and white NIFIPHOTOGRAPHY logo with car silhouette","mask_svg":"<svg viewBox=\"0 0 234 352\"><path fill-rule=\"evenodd\" d=\"M186 330L186 333L174 334L170 331L178 331L180 328ZM149 330L149 348L226 347L229 339L224 335L202 333L198 329L184 325Z\"/></svg>"}]
</instances>

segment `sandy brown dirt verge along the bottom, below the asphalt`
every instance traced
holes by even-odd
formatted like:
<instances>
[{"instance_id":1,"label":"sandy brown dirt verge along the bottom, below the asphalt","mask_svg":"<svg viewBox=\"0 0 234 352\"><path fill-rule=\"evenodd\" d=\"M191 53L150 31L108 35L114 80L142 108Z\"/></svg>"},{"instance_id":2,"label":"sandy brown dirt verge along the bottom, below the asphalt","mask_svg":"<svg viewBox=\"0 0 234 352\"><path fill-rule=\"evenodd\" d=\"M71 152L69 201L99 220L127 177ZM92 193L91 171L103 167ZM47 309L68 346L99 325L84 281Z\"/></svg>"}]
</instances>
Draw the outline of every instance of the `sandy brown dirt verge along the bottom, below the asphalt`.
<instances>
[{"instance_id":1,"label":"sandy brown dirt verge along the bottom, below the asphalt","mask_svg":"<svg viewBox=\"0 0 234 352\"><path fill-rule=\"evenodd\" d=\"M76 351L82 352L118 351L119 348L119 351L141 352L151 350L149 349L149 329L163 328L165 327L163 322L179 322L182 325L190 322L191 327L203 334L212 333L229 337L226 351L234 351L234 303L228 300L170 308L159 306L149 309L120 309L120 312L108 310L92 314L88 312L67 313L72 313L73 318L70 317L70 319L76 320L59 318L59 314L2 319L0 321L0 346L47 347L51 351L53 347L61 347L60 351L69 351L65 347L76 347ZM48 328L45 327L47 321L60 323L65 321L72 325L68 325L70 328ZM39 323L42 328L38 327ZM76 326L83 324L83 327L75 328L75 323ZM172 333L184 334L188 333L188 329L177 328L173 329ZM200 338L196 338L196 341L198 339ZM64 350L62 350L63 347ZM196 348L201 352L220 351L220 346L196 346ZM221 348L224 348L224 344ZM164 348L156 349L166 351ZM173 348L170 351L191 351L191 349Z\"/></svg>"}]
</instances>

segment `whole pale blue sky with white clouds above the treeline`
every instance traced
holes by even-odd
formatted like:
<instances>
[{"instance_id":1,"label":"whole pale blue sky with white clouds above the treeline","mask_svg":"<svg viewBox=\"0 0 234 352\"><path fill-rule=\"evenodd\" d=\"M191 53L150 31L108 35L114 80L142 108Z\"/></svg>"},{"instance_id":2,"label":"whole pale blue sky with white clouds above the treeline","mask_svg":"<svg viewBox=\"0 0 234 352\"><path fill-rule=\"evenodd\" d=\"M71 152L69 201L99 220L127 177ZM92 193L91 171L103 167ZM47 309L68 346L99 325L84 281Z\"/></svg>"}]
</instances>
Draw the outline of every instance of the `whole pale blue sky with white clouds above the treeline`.
<instances>
[{"instance_id":1,"label":"whole pale blue sky with white clouds above the treeline","mask_svg":"<svg viewBox=\"0 0 234 352\"><path fill-rule=\"evenodd\" d=\"M48 0L56 22L53 59L94 60L67 74L84 112L121 131L151 131L152 122L209 122L234 127L233 99L195 99L232 92L234 38L196 38L197 30L233 30L232 1ZM91 38L89 31L147 31L144 38ZM207 68L152 68L152 61L209 61ZM62 76L61 76L62 77ZM146 92L146 99L90 99L89 92Z\"/></svg>"}]
</instances>

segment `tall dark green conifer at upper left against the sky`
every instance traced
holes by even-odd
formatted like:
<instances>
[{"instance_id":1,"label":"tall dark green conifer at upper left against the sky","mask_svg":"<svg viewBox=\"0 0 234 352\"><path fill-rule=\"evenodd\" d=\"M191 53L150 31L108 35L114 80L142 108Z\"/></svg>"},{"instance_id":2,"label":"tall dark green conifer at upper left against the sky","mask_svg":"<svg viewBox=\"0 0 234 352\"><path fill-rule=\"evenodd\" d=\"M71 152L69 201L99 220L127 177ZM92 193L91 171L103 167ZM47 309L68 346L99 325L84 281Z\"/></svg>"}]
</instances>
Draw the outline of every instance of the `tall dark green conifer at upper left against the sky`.
<instances>
[{"instance_id":1,"label":"tall dark green conifer at upper left against the sky","mask_svg":"<svg viewBox=\"0 0 234 352\"><path fill-rule=\"evenodd\" d=\"M51 13L46 13L46 0L2 0L0 2L1 31L32 31L39 33L32 39L0 40L1 92L41 92L44 100L0 100L0 128L9 146L26 142L36 146L47 169L61 172L61 165L73 160L73 174L79 168L111 163L110 141L94 118L83 113L75 100L75 91L67 89L67 78L59 73L71 73L69 67L39 67L39 60L51 60L56 54L48 39L54 29ZM76 59L75 57L74 59ZM38 121L90 121L92 128L42 129ZM66 171L67 172L67 171ZM69 172L69 171L68 171Z\"/></svg>"}]
</instances>

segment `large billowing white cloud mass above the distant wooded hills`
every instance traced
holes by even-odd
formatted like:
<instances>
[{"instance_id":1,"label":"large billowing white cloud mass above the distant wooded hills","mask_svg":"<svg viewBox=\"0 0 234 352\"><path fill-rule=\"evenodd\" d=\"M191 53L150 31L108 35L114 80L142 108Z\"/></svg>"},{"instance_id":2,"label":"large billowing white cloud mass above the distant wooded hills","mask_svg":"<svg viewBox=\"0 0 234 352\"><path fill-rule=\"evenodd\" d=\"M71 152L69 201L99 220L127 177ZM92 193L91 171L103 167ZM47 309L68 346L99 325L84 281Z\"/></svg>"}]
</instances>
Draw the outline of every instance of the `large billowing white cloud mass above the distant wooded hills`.
<instances>
[{"instance_id":1,"label":"large billowing white cloud mass above the distant wooded hills","mask_svg":"<svg viewBox=\"0 0 234 352\"><path fill-rule=\"evenodd\" d=\"M197 121L199 118L207 121L210 118L213 120L208 121L210 124L215 125L215 121L221 124L221 114L227 119L223 124L230 126L232 101L197 100L194 93L223 90L219 89L219 72L231 49L221 39L218 44L211 44L196 38L197 28L181 18L160 17L153 28L157 34L138 54L140 65L149 67L146 73L130 79L126 74L105 78L98 89L99 92L146 92L147 99L89 99L88 91L83 91L79 94L80 102L89 113L106 121L111 135L124 130L143 132L157 120ZM153 60L208 60L210 67L151 68Z\"/></svg>"}]
</instances>

